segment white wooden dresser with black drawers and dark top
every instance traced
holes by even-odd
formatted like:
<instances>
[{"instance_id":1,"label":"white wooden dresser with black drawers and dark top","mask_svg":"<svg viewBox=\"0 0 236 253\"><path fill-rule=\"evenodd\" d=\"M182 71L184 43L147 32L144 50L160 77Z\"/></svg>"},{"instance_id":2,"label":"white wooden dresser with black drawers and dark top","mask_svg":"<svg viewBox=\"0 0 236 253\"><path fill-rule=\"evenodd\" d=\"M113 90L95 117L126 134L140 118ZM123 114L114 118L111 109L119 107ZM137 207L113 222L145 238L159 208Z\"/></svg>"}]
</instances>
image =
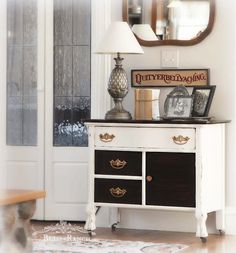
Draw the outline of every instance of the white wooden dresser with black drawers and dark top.
<instances>
[{"instance_id":1,"label":"white wooden dresser with black drawers and dark top","mask_svg":"<svg viewBox=\"0 0 236 253\"><path fill-rule=\"evenodd\" d=\"M196 236L207 214L225 227L225 123L89 120L89 204L96 207L195 211ZM158 219L158 217L157 217Z\"/></svg>"}]
</instances>

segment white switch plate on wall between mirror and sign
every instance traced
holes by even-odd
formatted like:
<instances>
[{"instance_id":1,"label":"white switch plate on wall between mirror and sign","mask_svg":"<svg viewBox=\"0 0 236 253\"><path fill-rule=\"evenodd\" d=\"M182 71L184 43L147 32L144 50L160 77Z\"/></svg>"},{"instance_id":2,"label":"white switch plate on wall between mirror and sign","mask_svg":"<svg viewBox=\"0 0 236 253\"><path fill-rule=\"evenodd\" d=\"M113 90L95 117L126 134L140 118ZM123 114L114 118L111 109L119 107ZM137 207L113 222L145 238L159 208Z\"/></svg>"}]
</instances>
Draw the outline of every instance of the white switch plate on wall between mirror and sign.
<instances>
[{"instance_id":1,"label":"white switch plate on wall between mirror and sign","mask_svg":"<svg viewBox=\"0 0 236 253\"><path fill-rule=\"evenodd\" d=\"M162 50L161 66L163 68L179 67L179 51L178 50Z\"/></svg>"}]
</instances>

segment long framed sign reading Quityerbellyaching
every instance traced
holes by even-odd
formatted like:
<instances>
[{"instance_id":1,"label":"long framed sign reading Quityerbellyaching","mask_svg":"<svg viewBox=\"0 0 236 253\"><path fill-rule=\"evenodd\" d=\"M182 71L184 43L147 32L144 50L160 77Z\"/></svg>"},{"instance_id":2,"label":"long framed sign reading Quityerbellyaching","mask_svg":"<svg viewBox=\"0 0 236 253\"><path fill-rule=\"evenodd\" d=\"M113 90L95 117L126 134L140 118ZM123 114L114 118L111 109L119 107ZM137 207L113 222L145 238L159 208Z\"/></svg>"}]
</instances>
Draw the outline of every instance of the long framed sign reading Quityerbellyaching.
<instances>
[{"instance_id":1,"label":"long framed sign reading Quityerbellyaching","mask_svg":"<svg viewBox=\"0 0 236 253\"><path fill-rule=\"evenodd\" d=\"M209 69L133 69L132 87L171 87L209 85Z\"/></svg>"}]
</instances>

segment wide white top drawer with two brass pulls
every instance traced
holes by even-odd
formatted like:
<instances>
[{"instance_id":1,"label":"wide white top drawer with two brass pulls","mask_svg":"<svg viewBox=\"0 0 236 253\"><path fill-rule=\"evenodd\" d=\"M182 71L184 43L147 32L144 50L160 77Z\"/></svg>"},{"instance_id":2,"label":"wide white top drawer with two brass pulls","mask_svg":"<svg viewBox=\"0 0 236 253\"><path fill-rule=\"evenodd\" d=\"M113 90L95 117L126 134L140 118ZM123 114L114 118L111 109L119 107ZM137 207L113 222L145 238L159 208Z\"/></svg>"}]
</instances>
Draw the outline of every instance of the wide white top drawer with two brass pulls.
<instances>
[{"instance_id":1,"label":"wide white top drawer with two brass pulls","mask_svg":"<svg viewBox=\"0 0 236 253\"><path fill-rule=\"evenodd\" d=\"M96 127L97 147L195 149L194 128Z\"/></svg>"}]
</instances>

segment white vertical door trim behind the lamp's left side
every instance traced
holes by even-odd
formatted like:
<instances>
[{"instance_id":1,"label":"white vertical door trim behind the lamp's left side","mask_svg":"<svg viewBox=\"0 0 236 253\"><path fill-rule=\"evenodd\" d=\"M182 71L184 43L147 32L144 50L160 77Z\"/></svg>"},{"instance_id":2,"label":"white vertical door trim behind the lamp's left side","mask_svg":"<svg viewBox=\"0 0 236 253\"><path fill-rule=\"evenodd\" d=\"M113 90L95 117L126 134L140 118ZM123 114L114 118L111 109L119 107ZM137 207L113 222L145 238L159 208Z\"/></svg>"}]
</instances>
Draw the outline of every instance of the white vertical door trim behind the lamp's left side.
<instances>
[{"instance_id":1,"label":"white vertical door trim behind the lamp's left side","mask_svg":"<svg viewBox=\"0 0 236 253\"><path fill-rule=\"evenodd\" d=\"M111 57L95 52L111 22L111 0L91 1L91 3L91 117L104 118L111 105L107 92Z\"/></svg>"}]
</instances>

